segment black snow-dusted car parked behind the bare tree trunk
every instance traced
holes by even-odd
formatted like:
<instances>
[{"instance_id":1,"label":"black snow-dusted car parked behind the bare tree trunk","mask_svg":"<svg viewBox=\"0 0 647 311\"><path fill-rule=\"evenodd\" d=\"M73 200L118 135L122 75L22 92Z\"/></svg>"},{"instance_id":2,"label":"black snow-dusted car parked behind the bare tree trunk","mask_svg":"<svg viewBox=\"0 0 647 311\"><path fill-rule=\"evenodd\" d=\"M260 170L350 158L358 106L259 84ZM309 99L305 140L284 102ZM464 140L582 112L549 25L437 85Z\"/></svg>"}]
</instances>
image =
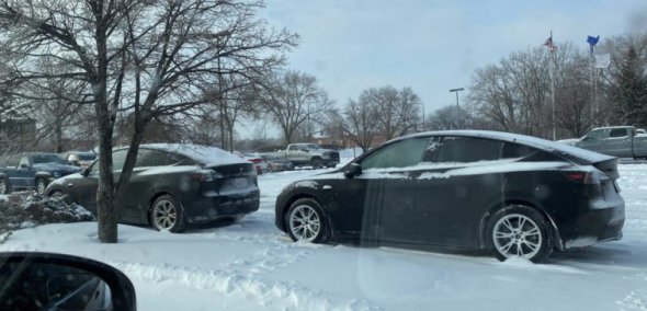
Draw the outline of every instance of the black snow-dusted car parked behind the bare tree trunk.
<instances>
[{"instance_id":1,"label":"black snow-dusted car parked behind the bare tree trunk","mask_svg":"<svg viewBox=\"0 0 647 311\"><path fill-rule=\"evenodd\" d=\"M127 148L112 153L118 180ZM98 162L81 173L58 178L45 193L67 196L97 211ZM143 145L121 206L120 221L182 231L188 224L239 218L259 209L260 192L252 163L218 148Z\"/></svg>"}]
</instances>

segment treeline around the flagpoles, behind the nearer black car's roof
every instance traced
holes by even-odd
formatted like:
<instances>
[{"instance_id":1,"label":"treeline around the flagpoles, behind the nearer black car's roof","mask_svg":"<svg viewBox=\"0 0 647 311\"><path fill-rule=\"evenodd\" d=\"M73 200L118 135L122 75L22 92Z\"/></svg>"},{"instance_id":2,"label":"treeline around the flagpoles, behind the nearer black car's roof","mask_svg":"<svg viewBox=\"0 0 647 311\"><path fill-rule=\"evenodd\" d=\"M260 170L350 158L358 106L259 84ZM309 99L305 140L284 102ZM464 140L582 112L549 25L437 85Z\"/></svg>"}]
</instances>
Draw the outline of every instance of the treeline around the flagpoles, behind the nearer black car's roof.
<instances>
[{"instance_id":1,"label":"treeline around the flagpoles, behind the nearer black car's roof","mask_svg":"<svg viewBox=\"0 0 647 311\"><path fill-rule=\"evenodd\" d=\"M555 55L543 47L513 51L497 64L478 68L466 105L434 112L428 120L430 127L497 129L552 138L553 66L557 138L579 137L595 126L647 126L647 35L603 38L595 54L610 55L608 68L592 68L589 50L572 43L558 43Z\"/></svg>"}]
</instances>

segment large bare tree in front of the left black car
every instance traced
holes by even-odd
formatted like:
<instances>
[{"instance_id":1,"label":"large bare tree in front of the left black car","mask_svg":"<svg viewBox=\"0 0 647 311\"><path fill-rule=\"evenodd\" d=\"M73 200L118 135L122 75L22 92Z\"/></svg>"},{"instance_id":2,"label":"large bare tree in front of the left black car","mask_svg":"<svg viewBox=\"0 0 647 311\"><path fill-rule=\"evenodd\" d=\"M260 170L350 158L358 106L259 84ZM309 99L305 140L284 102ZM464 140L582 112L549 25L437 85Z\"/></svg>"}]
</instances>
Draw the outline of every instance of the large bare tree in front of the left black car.
<instances>
[{"instance_id":1,"label":"large bare tree in front of the left black car","mask_svg":"<svg viewBox=\"0 0 647 311\"><path fill-rule=\"evenodd\" d=\"M256 18L261 2L238 0L0 1L0 53L14 59L19 80L83 81L99 131L99 239L117 241L117 215L147 125L206 102L195 84L205 76L241 74L282 64L296 36L268 31ZM217 66L218 60L226 67ZM54 77L35 61L71 68ZM223 91L223 90L220 90ZM26 95L26 94L22 94ZM70 99L70 102L73 101ZM134 127L118 183L112 176L117 112Z\"/></svg>"}]
</instances>

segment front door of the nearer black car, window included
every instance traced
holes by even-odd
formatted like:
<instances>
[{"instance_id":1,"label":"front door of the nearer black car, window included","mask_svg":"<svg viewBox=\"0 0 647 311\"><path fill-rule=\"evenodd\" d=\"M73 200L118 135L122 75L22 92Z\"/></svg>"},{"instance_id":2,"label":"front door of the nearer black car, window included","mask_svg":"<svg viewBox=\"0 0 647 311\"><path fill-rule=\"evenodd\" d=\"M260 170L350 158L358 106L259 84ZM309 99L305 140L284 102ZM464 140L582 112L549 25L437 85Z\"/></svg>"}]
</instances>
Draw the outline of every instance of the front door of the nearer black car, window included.
<instances>
[{"instance_id":1,"label":"front door of the nearer black car, window included","mask_svg":"<svg viewBox=\"0 0 647 311\"><path fill-rule=\"evenodd\" d=\"M415 166L428 140L409 138L376 149L357 161L361 175L337 187L347 226L361 232L362 239L417 240Z\"/></svg>"}]
</instances>

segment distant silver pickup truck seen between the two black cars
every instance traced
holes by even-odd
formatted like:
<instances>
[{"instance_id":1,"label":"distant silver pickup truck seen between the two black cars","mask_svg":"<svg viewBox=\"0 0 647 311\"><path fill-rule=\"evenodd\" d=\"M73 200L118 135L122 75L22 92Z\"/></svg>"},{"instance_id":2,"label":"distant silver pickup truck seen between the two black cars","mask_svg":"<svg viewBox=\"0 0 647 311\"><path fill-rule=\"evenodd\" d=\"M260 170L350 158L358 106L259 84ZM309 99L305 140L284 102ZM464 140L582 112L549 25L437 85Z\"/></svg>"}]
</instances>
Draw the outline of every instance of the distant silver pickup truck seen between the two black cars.
<instances>
[{"instance_id":1,"label":"distant silver pickup truck seen between the two black cars","mask_svg":"<svg viewBox=\"0 0 647 311\"><path fill-rule=\"evenodd\" d=\"M339 164L339 152L324 149L315 143L290 143L284 150L272 154L292 162L294 166L310 165L320 169L334 168Z\"/></svg>"}]
</instances>

